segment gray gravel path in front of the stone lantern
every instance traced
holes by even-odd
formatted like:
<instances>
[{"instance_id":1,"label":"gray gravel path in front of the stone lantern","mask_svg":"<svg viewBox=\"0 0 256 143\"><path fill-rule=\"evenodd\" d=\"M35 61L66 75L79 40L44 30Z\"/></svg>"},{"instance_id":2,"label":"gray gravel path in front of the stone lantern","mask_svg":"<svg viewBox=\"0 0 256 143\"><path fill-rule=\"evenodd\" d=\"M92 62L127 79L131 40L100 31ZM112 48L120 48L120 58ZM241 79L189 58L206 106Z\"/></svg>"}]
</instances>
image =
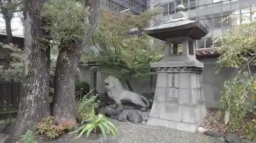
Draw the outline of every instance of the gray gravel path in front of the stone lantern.
<instances>
[{"instance_id":1,"label":"gray gravel path in front of the stone lantern","mask_svg":"<svg viewBox=\"0 0 256 143\"><path fill-rule=\"evenodd\" d=\"M118 143L224 143L219 138L205 136L201 133L183 132L165 127L131 122L117 122L120 138Z\"/></svg>"}]
</instances>

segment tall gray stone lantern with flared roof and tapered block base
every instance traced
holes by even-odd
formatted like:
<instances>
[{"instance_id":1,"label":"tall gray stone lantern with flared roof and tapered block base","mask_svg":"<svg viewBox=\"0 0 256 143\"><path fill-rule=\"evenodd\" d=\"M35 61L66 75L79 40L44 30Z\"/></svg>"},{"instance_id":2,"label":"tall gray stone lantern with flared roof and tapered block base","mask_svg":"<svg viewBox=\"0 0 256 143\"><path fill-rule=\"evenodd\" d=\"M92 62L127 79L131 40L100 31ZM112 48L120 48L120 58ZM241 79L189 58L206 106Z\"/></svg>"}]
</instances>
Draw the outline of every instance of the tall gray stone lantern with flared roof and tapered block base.
<instances>
[{"instance_id":1,"label":"tall gray stone lantern with flared roof and tapered block base","mask_svg":"<svg viewBox=\"0 0 256 143\"><path fill-rule=\"evenodd\" d=\"M165 41L164 58L151 63L157 71L153 106L147 124L196 132L207 116L202 88L203 63L196 59L195 42L208 34L200 21L188 20L183 5L172 20L144 32ZM182 45L182 54L178 45Z\"/></svg>"}]
</instances>

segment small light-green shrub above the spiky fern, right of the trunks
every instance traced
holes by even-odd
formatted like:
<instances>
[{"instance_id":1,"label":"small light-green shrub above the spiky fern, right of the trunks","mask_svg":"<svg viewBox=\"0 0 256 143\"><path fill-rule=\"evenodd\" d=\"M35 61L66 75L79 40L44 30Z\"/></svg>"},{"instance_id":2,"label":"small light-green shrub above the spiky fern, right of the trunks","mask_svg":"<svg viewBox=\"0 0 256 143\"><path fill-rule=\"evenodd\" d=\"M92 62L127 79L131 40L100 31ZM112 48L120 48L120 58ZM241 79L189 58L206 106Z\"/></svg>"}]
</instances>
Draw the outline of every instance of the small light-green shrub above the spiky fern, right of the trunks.
<instances>
[{"instance_id":1,"label":"small light-green shrub above the spiky fern, right of the trunks","mask_svg":"<svg viewBox=\"0 0 256 143\"><path fill-rule=\"evenodd\" d=\"M81 117L81 121L89 119L91 116L95 115L94 109L98 106L95 102L96 96L87 98L84 96L82 100L78 103L77 109Z\"/></svg>"}]
</instances>

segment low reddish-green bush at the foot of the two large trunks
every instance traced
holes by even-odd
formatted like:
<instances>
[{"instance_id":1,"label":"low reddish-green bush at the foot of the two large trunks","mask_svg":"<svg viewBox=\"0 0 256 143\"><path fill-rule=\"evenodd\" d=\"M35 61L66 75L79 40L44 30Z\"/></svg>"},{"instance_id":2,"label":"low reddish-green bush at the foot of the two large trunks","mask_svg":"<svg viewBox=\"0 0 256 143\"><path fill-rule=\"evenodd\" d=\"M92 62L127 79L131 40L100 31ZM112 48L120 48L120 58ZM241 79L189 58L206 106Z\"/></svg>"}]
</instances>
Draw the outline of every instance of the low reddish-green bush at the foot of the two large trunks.
<instances>
[{"instance_id":1,"label":"low reddish-green bush at the foot of the two large trunks","mask_svg":"<svg viewBox=\"0 0 256 143\"><path fill-rule=\"evenodd\" d=\"M59 126L54 125L54 117L44 118L35 126L36 134L45 135L50 139L59 137L63 132L69 132L71 128L69 121L64 121Z\"/></svg>"}]
</instances>

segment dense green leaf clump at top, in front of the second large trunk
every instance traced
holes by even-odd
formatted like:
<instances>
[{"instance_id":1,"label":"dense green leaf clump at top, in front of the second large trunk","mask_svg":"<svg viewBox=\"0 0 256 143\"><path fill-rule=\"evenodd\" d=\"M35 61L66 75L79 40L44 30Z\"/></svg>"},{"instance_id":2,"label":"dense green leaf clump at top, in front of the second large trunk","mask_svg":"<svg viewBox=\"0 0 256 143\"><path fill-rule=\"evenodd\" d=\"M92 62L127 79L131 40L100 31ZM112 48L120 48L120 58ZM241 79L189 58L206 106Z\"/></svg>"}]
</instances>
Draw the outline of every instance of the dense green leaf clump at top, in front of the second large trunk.
<instances>
[{"instance_id":1,"label":"dense green leaf clump at top, in front of the second large trunk","mask_svg":"<svg viewBox=\"0 0 256 143\"><path fill-rule=\"evenodd\" d=\"M89 27L88 13L88 8L84 8L82 2L50 0L44 4L43 15L48 20L45 28L51 32L55 41L69 44L71 40L84 37Z\"/></svg>"}]
</instances>

